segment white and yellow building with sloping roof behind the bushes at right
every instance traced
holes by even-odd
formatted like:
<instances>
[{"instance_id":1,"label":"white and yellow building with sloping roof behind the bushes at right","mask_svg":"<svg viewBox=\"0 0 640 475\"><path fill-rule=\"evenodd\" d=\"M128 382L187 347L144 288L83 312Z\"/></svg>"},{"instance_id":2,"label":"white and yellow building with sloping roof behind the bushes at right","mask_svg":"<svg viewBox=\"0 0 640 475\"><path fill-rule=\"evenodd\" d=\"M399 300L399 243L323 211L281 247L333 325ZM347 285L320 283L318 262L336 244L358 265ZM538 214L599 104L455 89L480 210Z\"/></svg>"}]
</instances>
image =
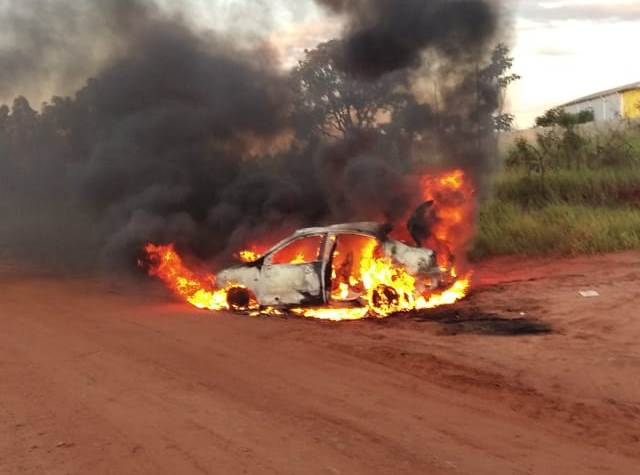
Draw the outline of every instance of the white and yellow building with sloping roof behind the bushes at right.
<instances>
[{"instance_id":1,"label":"white and yellow building with sloping roof behind the bushes at right","mask_svg":"<svg viewBox=\"0 0 640 475\"><path fill-rule=\"evenodd\" d=\"M640 117L640 81L590 94L561 105L566 112L577 114L592 110L594 120L632 119Z\"/></svg>"}]
</instances>

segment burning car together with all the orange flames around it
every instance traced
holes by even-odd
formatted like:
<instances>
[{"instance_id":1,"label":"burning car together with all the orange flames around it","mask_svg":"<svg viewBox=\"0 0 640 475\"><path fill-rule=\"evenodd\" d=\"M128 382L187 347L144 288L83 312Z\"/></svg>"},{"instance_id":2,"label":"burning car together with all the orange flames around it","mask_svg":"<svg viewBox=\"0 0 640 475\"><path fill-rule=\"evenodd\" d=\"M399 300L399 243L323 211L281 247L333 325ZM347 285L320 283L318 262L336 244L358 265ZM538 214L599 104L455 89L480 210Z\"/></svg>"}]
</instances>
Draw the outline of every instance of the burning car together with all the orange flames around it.
<instances>
[{"instance_id":1,"label":"burning car together with all the orange flames around it","mask_svg":"<svg viewBox=\"0 0 640 475\"><path fill-rule=\"evenodd\" d=\"M241 251L244 263L217 276L189 269L173 245L148 244L149 273L198 308L254 315L286 310L340 321L452 304L466 295L471 277L456 268L451 252L463 242L452 231L463 231L472 212L464 178L456 170L422 180L425 198L443 202L430 201L433 232L423 233L442 254L391 238L390 226L353 223L299 230L264 255Z\"/></svg>"}]
</instances>

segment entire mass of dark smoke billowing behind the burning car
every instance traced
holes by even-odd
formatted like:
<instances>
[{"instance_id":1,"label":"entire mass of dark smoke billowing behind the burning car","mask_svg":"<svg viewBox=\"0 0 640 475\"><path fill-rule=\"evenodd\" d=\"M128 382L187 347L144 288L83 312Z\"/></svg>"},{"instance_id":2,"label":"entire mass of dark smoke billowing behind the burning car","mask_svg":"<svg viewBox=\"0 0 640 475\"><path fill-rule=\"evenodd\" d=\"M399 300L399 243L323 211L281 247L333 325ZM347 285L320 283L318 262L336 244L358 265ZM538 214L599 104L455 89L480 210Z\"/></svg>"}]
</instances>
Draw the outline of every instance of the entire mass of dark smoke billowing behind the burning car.
<instances>
[{"instance_id":1,"label":"entire mass of dark smoke billowing behind the burning car","mask_svg":"<svg viewBox=\"0 0 640 475\"><path fill-rule=\"evenodd\" d=\"M292 78L268 45L202 32L151 0L50 1L42 15L36 3L0 16L5 25L19 18L24 35L20 47L0 53L0 91L16 90L25 77L44 87L52 77L75 81L95 71L75 94L53 97L39 113L23 97L0 107L0 257L64 269L131 267L146 242L173 241L199 257L223 258L298 226L393 221L415 204L408 161L385 153L393 140L383 138L391 135L356 131L327 142L312 134L311 119L295 111ZM381 56L369 47L341 55L357 74L402 72L418 66L426 47L445 49L457 38L439 73L453 84L443 101L455 113L436 119L429 104L414 101L393 123L421 124L425 143L451 163L484 168L479 141L491 132L495 91L480 90L467 62L455 58L458 49L478 59L486 53L464 43L488 40L489 21L479 27L468 17L488 15L486 5L331 3L352 19L347 51L362 46L358 32L373 34L378 46L391 42ZM402 5L396 15L414 18L449 12L450 28L425 36L417 30L433 19L405 25L416 31L400 42L404 59L391 61L398 38L375 31L377 15L391 12L392 3ZM449 10L456 6L460 16Z\"/></svg>"}]
</instances>

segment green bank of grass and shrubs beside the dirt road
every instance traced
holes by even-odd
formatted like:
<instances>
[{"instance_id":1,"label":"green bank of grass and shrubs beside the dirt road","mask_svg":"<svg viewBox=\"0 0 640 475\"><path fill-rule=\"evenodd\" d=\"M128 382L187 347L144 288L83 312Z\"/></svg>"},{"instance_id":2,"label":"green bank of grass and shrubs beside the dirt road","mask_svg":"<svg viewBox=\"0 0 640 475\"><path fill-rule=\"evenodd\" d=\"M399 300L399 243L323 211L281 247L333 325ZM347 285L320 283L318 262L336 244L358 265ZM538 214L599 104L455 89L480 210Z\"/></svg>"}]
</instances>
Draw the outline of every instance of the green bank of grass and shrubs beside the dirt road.
<instances>
[{"instance_id":1,"label":"green bank of grass and shrubs beside the dirt road","mask_svg":"<svg viewBox=\"0 0 640 475\"><path fill-rule=\"evenodd\" d=\"M640 249L640 124L519 139L479 213L474 258Z\"/></svg>"}]
</instances>

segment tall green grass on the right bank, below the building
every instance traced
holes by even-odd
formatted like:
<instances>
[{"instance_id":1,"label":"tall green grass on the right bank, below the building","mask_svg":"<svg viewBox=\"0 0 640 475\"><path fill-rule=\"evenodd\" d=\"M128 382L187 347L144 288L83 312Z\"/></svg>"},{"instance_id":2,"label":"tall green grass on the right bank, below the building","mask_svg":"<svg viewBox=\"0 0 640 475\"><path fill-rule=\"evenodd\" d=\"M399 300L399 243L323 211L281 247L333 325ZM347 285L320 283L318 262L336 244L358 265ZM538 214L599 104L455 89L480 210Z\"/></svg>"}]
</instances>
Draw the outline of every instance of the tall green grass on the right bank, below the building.
<instances>
[{"instance_id":1,"label":"tall green grass on the right bank, below the building","mask_svg":"<svg viewBox=\"0 0 640 475\"><path fill-rule=\"evenodd\" d=\"M607 164L606 148L597 150L595 165L550 167L543 175L512 163L480 210L471 257L640 249L640 134L628 144L617 166Z\"/></svg>"}]
</instances>

